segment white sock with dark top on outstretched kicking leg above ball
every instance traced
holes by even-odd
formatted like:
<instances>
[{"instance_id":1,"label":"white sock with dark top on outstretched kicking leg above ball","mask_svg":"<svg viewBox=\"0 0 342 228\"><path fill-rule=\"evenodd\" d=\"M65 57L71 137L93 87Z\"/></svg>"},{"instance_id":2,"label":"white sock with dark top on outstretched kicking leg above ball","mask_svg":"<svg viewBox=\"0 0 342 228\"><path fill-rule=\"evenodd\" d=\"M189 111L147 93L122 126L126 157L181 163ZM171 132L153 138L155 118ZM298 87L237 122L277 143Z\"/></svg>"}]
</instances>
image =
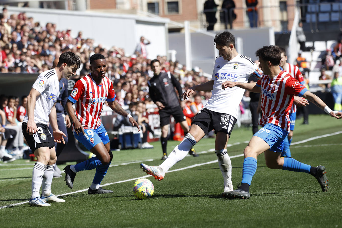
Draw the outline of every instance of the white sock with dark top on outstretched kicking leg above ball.
<instances>
[{"instance_id":1,"label":"white sock with dark top on outstretched kicking leg above ball","mask_svg":"<svg viewBox=\"0 0 342 228\"><path fill-rule=\"evenodd\" d=\"M197 142L194 136L192 136L190 133L187 133L183 141L173 149L168 158L163 163L161 163L159 167L164 172L167 172L177 162L182 161L185 158L185 156L189 153L191 147L195 146L196 143Z\"/></svg>"}]
</instances>

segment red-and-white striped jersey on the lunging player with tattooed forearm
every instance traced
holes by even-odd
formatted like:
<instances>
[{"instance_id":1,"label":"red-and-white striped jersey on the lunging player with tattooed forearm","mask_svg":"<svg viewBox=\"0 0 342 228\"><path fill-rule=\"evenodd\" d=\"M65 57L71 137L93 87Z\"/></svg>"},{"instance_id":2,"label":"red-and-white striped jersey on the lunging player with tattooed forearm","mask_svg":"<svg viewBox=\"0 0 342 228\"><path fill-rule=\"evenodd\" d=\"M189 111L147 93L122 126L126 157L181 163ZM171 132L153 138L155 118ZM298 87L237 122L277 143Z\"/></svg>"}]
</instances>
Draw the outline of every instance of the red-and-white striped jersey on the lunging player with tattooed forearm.
<instances>
[{"instance_id":1,"label":"red-and-white striped jersey on the lunging player with tattooed forearm","mask_svg":"<svg viewBox=\"0 0 342 228\"><path fill-rule=\"evenodd\" d=\"M289 110L293 103L293 96L302 96L307 89L299 81L285 71L281 71L273 79L262 75L257 82L261 87L261 126L272 123L280 128L290 130Z\"/></svg>"}]
</instances>

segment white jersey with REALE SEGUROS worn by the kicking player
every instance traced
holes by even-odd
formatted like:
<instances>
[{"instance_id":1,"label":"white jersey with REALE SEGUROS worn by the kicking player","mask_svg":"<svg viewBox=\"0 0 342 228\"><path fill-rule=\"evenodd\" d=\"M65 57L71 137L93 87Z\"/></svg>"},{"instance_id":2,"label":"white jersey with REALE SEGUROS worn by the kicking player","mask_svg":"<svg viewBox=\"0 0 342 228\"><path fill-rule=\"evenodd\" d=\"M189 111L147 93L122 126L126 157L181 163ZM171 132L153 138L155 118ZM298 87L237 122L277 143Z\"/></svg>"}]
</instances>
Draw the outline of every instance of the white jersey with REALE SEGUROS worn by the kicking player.
<instances>
[{"instance_id":1,"label":"white jersey with REALE SEGUROS worn by the kicking player","mask_svg":"<svg viewBox=\"0 0 342 228\"><path fill-rule=\"evenodd\" d=\"M245 90L239 87L223 90L222 83L247 82L251 74L260 78L262 72L249 57L239 54L230 61L224 60L222 56L216 57L212 75L214 81L212 95L204 108L237 118L238 106Z\"/></svg>"}]
</instances>

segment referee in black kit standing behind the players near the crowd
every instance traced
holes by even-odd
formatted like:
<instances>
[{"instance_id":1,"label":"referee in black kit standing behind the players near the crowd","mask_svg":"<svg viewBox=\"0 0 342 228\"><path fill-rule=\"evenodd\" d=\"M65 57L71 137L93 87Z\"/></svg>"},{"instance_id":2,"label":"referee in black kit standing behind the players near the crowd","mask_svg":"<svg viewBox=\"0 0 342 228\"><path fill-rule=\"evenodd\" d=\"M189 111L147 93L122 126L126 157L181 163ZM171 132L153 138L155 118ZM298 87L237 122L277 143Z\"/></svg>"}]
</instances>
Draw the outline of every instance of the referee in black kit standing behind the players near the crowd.
<instances>
[{"instance_id":1,"label":"referee in black kit standing behind the players near the crowd","mask_svg":"<svg viewBox=\"0 0 342 228\"><path fill-rule=\"evenodd\" d=\"M161 127L161 147L163 157L167 158L167 137L169 134L170 116L172 115L175 121L181 124L181 127L186 135L189 131L189 126L183 114L185 104L183 102L183 91L181 84L171 75L170 72L160 72L160 62L158 59L151 61L151 69L154 76L148 81L149 95L153 102L159 108L160 127ZM177 89L179 96L174 91ZM189 151L190 155L198 157L193 148Z\"/></svg>"}]
</instances>

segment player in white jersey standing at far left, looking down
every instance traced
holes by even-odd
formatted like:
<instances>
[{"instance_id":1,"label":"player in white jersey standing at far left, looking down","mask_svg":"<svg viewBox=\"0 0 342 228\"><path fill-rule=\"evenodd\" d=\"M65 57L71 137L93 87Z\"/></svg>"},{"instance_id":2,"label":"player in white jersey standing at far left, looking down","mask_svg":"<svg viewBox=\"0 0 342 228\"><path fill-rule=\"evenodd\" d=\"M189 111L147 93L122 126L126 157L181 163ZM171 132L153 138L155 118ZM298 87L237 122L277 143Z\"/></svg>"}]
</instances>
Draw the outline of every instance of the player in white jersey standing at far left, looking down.
<instances>
[{"instance_id":1,"label":"player in white jersey standing at far left, looking down","mask_svg":"<svg viewBox=\"0 0 342 228\"><path fill-rule=\"evenodd\" d=\"M50 206L48 202L65 202L51 193L53 171L56 163L55 143L64 143L63 135L58 130L56 119L56 100L62 88L59 81L75 74L80 67L79 58L72 52L61 54L57 66L42 72L32 85L27 97L27 113L22 130L30 149L37 158L32 171L31 206ZM48 129L52 125L53 136ZM42 194L39 195L42 186Z\"/></svg>"}]
</instances>

